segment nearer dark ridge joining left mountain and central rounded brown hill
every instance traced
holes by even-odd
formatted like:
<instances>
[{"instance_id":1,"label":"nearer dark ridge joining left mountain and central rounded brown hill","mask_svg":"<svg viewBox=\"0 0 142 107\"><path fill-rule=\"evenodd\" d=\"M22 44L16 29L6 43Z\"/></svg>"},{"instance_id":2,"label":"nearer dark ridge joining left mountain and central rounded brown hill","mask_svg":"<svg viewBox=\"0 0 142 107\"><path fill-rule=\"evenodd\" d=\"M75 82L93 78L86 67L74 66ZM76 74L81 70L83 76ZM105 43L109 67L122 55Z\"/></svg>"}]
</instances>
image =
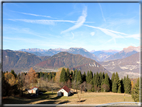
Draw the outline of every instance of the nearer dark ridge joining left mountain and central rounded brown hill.
<instances>
[{"instance_id":1,"label":"nearer dark ridge joining left mountain and central rounded brown hill","mask_svg":"<svg viewBox=\"0 0 142 107\"><path fill-rule=\"evenodd\" d=\"M60 52L53 56L36 56L22 51L3 50L3 71L18 72L28 71L33 67L35 71L56 71L60 67L78 69L82 72L92 70L92 72L107 72L99 63L79 54Z\"/></svg>"}]
</instances>

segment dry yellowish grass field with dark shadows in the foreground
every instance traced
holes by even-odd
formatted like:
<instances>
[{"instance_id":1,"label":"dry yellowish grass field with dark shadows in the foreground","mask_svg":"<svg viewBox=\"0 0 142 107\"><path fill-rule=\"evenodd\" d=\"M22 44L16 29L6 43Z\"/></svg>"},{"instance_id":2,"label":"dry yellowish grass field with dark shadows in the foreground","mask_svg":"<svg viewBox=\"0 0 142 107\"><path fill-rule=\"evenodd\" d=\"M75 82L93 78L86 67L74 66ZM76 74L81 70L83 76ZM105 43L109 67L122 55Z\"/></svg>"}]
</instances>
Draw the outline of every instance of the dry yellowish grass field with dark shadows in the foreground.
<instances>
[{"instance_id":1,"label":"dry yellowish grass field with dark shadows in the foreground","mask_svg":"<svg viewBox=\"0 0 142 107\"><path fill-rule=\"evenodd\" d=\"M124 102L124 94L112 92L83 92L81 94L78 92L69 97L57 97L56 92L52 94L48 91L37 98L9 97L3 98L2 102L3 104L106 104ZM125 94L125 102L134 102L130 94Z\"/></svg>"}]
</instances>

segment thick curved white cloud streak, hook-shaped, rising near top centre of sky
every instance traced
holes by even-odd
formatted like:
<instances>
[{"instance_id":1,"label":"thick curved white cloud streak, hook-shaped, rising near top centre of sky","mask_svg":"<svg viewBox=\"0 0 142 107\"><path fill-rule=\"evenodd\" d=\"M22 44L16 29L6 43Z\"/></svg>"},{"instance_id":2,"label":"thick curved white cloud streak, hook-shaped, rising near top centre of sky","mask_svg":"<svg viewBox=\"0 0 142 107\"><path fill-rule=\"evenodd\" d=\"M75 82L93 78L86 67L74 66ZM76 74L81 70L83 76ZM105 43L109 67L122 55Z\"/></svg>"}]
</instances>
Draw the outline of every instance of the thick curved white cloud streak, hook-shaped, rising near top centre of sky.
<instances>
[{"instance_id":1,"label":"thick curved white cloud streak, hook-shaped, rising near top centre of sky","mask_svg":"<svg viewBox=\"0 0 142 107\"><path fill-rule=\"evenodd\" d=\"M61 34L81 27L83 25L83 23L85 22L86 17L87 17L87 7L84 7L84 9L82 11L82 16L80 16L78 18L76 24L74 26L70 27L69 29L62 31Z\"/></svg>"}]
</instances>

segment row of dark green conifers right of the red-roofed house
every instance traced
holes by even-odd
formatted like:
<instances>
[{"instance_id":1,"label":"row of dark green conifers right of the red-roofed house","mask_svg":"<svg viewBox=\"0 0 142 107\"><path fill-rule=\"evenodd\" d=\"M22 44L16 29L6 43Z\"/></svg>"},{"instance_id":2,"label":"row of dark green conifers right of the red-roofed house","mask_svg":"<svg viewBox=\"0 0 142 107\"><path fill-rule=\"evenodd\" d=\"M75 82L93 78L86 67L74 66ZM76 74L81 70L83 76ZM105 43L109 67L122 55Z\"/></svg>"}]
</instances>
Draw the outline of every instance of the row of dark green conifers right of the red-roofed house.
<instances>
[{"instance_id":1,"label":"row of dark green conifers right of the red-roofed house","mask_svg":"<svg viewBox=\"0 0 142 107\"><path fill-rule=\"evenodd\" d=\"M131 93L131 80L128 77L119 79L118 73L113 73L112 77L108 76L107 73L93 73L88 71L87 74L81 73L80 70L74 70L69 72L69 69L64 68L60 74L60 83L72 84L72 88L81 89L92 92L115 92L115 93Z\"/></svg>"}]
</instances>

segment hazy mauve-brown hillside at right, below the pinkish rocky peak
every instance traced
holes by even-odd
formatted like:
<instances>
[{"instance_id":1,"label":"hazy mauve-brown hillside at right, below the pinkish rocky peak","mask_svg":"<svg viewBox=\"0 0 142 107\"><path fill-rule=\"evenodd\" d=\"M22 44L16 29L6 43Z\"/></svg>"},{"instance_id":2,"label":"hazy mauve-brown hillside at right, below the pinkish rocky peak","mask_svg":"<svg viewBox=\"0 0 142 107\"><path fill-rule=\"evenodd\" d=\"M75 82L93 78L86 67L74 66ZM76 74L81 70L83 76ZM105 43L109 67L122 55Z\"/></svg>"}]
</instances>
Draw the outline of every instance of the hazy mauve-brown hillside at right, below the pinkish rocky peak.
<instances>
[{"instance_id":1,"label":"hazy mauve-brown hillside at right, below the pinkish rocky peak","mask_svg":"<svg viewBox=\"0 0 142 107\"><path fill-rule=\"evenodd\" d=\"M140 53L135 53L123 59L105 61L100 64L110 72L118 72L121 77L127 74L131 77L138 77L140 70Z\"/></svg>"}]
</instances>

